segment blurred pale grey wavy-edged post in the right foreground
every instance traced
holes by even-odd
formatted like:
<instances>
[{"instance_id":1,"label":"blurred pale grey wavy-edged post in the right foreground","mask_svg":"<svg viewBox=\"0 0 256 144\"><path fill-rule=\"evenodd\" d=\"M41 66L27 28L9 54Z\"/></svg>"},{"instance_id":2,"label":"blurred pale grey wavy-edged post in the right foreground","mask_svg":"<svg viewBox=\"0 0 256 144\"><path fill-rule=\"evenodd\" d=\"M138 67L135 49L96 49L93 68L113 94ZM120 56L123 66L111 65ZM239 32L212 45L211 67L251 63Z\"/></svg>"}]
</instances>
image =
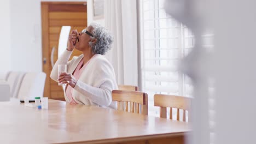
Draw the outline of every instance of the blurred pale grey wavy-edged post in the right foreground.
<instances>
[{"instance_id":1,"label":"blurred pale grey wavy-edged post in the right foreground","mask_svg":"<svg viewBox=\"0 0 256 144\"><path fill-rule=\"evenodd\" d=\"M208 62L209 56L202 47L202 32L205 29L206 3L200 0L166 0L165 9L194 34L195 44L191 52L179 64L179 70L193 81L194 92L192 109L193 133L187 137L188 143L210 143L210 125L208 109ZM207 19L208 20L208 19Z\"/></svg>"}]
</instances>

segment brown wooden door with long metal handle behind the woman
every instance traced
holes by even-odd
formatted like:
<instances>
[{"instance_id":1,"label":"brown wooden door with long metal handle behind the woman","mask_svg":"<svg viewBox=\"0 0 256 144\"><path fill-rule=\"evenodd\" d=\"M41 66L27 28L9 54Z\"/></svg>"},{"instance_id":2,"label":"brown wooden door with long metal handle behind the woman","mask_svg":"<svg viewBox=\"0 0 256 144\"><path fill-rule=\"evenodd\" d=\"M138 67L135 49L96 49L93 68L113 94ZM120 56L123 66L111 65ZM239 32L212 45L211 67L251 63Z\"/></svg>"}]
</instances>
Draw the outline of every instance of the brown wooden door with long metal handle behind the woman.
<instances>
[{"instance_id":1,"label":"brown wooden door with long metal handle behind the woman","mask_svg":"<svg viewBox=\"0 0 256 144\"><path fill-rule=\"evenodd\" d=\"M46 73L44 97L50 99L65 100L63 89L58 83L50 79L53 62L58 58L59 38L62 26L71 26L72 29L82 31L87 26L86 2L41 2L42 11L42 52L43 71ZM55 51L53 52L53 47ZM79 56L82 52L74 50L73 56Z\"/></svg>"}]
</instances>

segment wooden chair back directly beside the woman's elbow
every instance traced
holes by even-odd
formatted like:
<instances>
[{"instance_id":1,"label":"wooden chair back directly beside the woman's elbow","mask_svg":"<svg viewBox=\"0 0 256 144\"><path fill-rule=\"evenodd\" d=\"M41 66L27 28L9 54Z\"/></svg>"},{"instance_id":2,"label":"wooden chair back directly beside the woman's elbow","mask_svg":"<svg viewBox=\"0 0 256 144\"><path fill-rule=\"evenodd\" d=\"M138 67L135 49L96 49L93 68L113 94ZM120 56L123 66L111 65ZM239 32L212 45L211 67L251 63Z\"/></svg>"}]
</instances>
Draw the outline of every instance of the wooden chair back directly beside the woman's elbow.
<instances>
[{"instance_id":1,"label":"wooden chair back directly beside the woman's elbow","mask_svg":"<svg viewBox=\"0 0 256 144\"><path fill-rule=\"evenodd\" d=\"M136 91L112 91L112 100L118 101L118 110L124 110L132 113L141 113L148 115L148 94ZM125 103L124 105L121 103ZM136 106L135 106L136 103ZM128 108L130 104L130 109ZM139 112L139 106L141 106L141 112Z\"/></svg>"}]
</instances>

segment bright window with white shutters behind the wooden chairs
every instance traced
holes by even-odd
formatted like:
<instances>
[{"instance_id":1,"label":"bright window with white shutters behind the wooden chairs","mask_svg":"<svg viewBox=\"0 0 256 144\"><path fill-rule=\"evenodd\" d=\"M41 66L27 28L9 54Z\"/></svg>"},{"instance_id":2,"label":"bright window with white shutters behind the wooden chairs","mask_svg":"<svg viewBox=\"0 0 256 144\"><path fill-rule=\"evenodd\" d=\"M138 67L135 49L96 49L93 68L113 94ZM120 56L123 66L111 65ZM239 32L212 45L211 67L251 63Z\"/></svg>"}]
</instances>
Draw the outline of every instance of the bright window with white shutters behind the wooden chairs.
<instances>
[{"instance_id":1,"label":"bright window with white shutters behind the wooden chairs","mask_svg":"<svg viewBox=\"0 0 256 144\"><path fill-rule=\"evenodd\" d=\"M142 91L148 93L149 115L159 116L154 94L192 95L189 77L179 74L177 65L195 40L189 28L165 13L164 0L143 0L141 6Z\"/></svg>"}]
</instances>

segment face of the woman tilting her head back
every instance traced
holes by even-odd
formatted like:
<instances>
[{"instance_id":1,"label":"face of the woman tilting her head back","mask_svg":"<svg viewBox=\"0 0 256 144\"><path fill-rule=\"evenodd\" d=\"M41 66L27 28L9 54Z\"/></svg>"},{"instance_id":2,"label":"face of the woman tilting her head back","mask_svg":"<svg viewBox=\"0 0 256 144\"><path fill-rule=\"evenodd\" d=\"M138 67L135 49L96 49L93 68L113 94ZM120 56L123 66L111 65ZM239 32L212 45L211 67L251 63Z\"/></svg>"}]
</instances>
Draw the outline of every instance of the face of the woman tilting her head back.
<instances>
[{"instance_id":1,"label":"face of the woman tilting her head back","mask_svg":"<svg viewBox=\"0 0 256 144\"><path fill-rule=\"evenodd\" d=\"M93 30L92 26L89 26L85 29L89 33L92 33L92 30ZM78 38L77 40L78 42L75 44L75 49L79 51L85 51L89 49L89 42L91 41L91 36L89 34L79 32L77 38Z\"/></svg>"}]
</instances>

